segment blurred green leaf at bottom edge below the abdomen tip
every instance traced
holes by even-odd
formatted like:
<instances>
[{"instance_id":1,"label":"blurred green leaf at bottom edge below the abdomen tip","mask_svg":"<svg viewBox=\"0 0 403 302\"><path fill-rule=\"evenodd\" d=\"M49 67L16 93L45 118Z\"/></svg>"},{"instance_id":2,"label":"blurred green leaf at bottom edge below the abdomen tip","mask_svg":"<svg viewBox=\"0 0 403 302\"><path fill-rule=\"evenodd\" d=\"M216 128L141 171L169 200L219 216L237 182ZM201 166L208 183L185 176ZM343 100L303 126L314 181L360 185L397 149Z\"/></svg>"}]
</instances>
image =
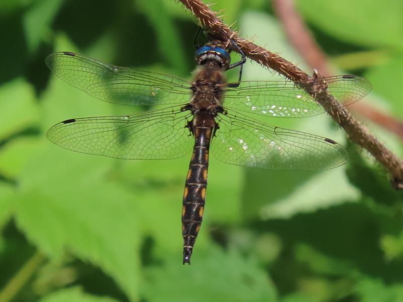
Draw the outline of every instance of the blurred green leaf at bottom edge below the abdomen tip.
<instances>
[{"instance_id":1,"label":"blurred green leaf at bottom edge below the abdomen tip","mask_svg":"<svg viewBox=\"0 0 403 302\"><path fill-rule=\"evenodd\" d=\"M252 259L211 245L188 265L166 262L147 269L144 295L151 301L276 301L271 280Z\"/></svg>"}]
</instances>

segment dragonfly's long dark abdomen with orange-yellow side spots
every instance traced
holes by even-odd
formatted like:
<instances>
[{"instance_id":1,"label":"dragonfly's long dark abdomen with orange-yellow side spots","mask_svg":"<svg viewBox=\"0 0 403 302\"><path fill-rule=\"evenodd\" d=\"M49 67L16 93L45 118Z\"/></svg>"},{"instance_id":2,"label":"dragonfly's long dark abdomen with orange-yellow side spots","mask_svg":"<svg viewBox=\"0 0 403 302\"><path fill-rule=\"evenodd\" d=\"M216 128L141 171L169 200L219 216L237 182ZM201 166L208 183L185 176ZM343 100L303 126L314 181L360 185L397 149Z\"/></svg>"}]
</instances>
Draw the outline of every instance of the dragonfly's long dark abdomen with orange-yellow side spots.
<instances>
[{"instance_id":1,"label":"dragonfly's long dark abdomen with orange-yellow side spots","mask_svg":"<svg viewBox=\"0 0 403 302\"><path fill-rule=\"evenodd\" d=\"M196 113L192 121L194 147L186 177L182 207L183 264L190 264L190 256L203 218L210 140L215 125L214 117L208 112Z\"/></svg>"}]
</instances>

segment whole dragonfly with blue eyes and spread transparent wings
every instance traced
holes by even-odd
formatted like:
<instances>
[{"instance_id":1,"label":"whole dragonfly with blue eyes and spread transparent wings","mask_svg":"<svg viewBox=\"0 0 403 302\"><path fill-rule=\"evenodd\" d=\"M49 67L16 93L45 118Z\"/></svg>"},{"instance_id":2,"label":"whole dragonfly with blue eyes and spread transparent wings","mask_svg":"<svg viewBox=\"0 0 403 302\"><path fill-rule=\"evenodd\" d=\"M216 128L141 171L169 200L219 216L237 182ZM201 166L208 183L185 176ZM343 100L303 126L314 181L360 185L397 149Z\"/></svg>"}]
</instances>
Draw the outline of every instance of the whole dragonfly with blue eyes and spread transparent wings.
<instances>
[{"instance_id":1,"label":"whole dragonfly with blue eyes and spread transparent wings","mask_svg":"<svg viewBox=\"0 0 403 302\"><path fill-rule=\"evenodd\" d=\"M210 151L228 164L268 170L318 171L348 161L330 138L272 126L256 119L297 118L324 112L306 91L327 85L343 105L365 97L371 85L356 75L308 83L239 81L228 83L229 47L210 41L195 52L192 81L104 63L73 52L46 58L64 82L99 100L122 105L163 105L134 115L70 118L55 124L48 139L79 153L117 159L166 160L191 154L182 201L183 264L190 257L205 208ZM301 89L304 87L306 89ZM192 152L193 150L193 152Z\"/></svg>"}]
</instances>

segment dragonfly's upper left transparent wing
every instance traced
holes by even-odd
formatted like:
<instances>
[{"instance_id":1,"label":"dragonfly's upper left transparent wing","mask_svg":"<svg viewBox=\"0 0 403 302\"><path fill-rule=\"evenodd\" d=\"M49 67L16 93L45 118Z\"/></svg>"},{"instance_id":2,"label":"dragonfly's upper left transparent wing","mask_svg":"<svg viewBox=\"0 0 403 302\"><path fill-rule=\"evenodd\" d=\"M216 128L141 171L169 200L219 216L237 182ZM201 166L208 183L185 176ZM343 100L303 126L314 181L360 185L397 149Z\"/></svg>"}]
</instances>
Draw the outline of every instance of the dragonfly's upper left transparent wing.
<instances>
[{"instance_id":1,"label":"dragonfly's upper left transparent wing","mask_svg":"<svg viewBox=\"0 0 403 302\"><path fill-rule=\"evenodd\" d=\"M73 52L52 53L45 62L64 82L106 102L182 104L192 94L191 84L185 80L111 65Z\"/></svg>"}]
</instances>

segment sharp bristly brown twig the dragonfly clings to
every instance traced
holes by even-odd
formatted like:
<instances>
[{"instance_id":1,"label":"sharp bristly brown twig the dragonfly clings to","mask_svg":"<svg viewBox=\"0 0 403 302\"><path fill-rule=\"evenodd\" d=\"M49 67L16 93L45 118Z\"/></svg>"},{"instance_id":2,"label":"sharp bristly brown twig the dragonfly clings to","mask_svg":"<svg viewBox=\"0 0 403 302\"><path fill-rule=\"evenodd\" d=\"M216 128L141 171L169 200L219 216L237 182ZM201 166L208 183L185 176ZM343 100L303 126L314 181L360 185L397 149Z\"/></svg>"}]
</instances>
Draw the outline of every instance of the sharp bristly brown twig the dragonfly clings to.
<instances>
[{"instance_id":1,"label":"sharp bristly brown twig the dragonfly clings to","mask_svg":"<svg viewBox=\"0 0 403 302\"><path fill-rule=\"evenodd\" d=\"M219 19L215 12L199 0L179 0L189 9L210 34L222 41L230 37L240 47L241 51L250 59L281 73L291 81L309 81L310 77L293 63L283 59L276 53L266 50L254 43L239 37L236 32ZM236 49L233 49L236 51ZM347 133L355 143L367 149L375 159L381 163L391 174L394 188L403 189L403 162L390 152L376 139L363 125L343 108L327 90L308 91L323 106L326 112Z\"/></svg>"}]
</instances>

